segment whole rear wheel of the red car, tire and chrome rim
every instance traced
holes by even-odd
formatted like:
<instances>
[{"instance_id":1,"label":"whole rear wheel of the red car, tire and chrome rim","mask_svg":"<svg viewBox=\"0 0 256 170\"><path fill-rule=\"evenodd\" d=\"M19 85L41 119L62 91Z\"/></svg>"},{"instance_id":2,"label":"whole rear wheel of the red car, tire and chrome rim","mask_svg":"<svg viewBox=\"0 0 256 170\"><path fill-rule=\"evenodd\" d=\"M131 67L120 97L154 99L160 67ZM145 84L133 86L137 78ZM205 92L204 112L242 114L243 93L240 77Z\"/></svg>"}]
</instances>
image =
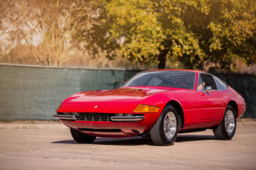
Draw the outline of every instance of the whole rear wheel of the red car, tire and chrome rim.
<instances>
[{"instance_id":1,"label":"whole rear wheel of the red car, tire and chrome rim","mask_svg":"<svg viewBox=\"0 0 256 170\"><path fill-rule=\"evenodd\" d=\"M213 133L218 140L231 140L235 134L235 128L235 109L228 105L222 122L213 129Z\"/></svg>"}]
</instances>

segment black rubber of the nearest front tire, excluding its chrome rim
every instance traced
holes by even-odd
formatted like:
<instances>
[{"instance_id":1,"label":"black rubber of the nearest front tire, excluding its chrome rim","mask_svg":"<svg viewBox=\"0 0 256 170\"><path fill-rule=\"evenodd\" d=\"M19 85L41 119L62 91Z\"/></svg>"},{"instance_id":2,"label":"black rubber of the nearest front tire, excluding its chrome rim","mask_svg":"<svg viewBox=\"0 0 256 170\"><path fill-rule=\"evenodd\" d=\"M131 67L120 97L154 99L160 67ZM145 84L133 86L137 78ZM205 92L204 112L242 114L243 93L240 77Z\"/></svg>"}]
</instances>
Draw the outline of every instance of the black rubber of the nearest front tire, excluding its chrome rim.
<instances>
[{"instance_id":1,"label":"black rubber of the nearest front tire, excluding its chrome rim","mask_svg":"<svg viewBox=\"0 0 256 170\"><path fill-rule=\"evenodd\" d=\"M176 132L173 133L174 135L171 137L167 137L167 135L164 133L164 119L167 117L167 114L169 114L169 112L172 112L176 119ZM153 144L158 146L164 146L164 145L171 145L173 142L175 142L177 135L178 135L178 114L176 109L174 109L171 105L167 105L164 109L162 109L160 117L151 128L150 136Z\"/></svg>"}]
</instances>

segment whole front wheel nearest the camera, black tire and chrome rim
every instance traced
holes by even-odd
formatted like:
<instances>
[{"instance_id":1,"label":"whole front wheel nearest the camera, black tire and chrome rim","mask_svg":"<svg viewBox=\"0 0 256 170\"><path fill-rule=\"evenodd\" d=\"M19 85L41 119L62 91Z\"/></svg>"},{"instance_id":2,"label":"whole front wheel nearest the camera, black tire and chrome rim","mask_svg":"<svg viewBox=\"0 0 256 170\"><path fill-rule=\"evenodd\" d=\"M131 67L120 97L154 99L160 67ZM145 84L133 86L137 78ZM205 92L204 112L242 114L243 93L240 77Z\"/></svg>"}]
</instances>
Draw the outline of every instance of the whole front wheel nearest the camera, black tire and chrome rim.
<instances>
[{"instance_id":1,"label":"whole front wheel nearest the camera, black tire and chrome rim","mask_svg":"<svg viewBox=\"0 0 256 170\"><path fill-rule=\"evenodd\" d=\"M157 122L150 130L150 136L155 145L170 145L178 135L178 115L171 105L166 106Z\"/></svg>"}]
</instances>

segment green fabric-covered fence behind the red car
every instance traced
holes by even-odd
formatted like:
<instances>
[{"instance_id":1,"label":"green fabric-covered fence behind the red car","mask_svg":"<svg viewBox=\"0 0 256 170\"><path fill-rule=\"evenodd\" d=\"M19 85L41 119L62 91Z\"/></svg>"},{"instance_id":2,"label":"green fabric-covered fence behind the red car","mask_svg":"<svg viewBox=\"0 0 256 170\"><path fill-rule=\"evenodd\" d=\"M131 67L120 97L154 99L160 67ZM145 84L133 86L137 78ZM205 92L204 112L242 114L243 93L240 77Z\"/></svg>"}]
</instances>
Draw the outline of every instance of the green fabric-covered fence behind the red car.
<instances>
[{"instance_id":1,"label":"green fabric-covered fence behind the red car","mask_svg":"<svg viewBox=\"0 0 256 170\"><path fill-rule=\"evenodd\" d=\"M136 72L0 65L0 120L53 119L55 109L71 94L117 88ZM256 117L256 77L216 76L244 96L244 117Z\"/></svg>"}]
</instances>

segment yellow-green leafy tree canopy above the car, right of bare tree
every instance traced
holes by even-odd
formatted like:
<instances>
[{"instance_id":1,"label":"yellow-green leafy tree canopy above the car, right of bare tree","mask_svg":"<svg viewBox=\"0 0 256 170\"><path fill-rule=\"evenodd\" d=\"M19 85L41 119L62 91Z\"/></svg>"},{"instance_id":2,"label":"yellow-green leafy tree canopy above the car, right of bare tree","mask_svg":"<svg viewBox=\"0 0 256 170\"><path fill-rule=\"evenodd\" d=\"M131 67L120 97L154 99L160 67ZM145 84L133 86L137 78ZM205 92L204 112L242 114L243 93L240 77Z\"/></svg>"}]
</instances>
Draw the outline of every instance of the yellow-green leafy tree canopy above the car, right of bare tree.
<instances>
[{"instance_id":1,"label":"yellow-green leafy tree canopy above the car, right of bare tree","mask_svg":"<svg viewBox=\"0 0 256 170\"><path fill-rule=\"evenodd\" d=\"M99 45L109 57L157 61L159 69L167 56L187 69L209 62L230 69L236 60L250 65L256 62L255 5L255 0L103 0L102 24L87 31L87 48Z\"/></svg>"}]
</instances>

